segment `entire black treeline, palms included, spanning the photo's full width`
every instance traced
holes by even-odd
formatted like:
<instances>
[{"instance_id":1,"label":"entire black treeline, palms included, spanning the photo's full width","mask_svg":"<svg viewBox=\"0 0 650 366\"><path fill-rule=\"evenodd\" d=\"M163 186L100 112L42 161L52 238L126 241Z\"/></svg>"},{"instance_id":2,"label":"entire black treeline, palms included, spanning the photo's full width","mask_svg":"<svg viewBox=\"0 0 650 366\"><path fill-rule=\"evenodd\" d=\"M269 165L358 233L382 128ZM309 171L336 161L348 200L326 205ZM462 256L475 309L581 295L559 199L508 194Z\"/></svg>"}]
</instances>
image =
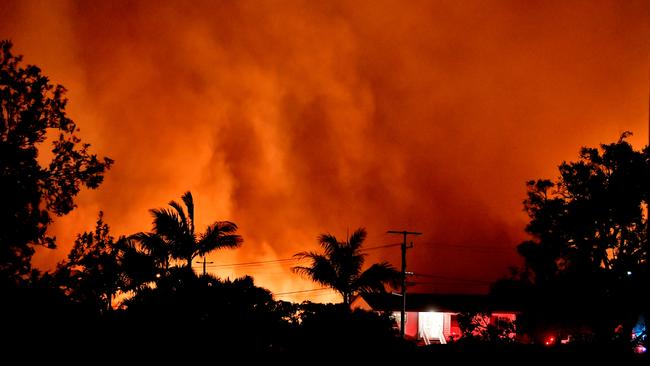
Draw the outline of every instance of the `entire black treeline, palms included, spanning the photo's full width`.
<instances>
[{"instance_id":1,"label":"entire black treeline, palms included, spanning the photo's full width","mask_svg":"<svg viewBox=\"0 0 650 366\"><path fill-rule=\"evenodd\" d=\"M244 238L230 221L196 227L190 192L152 209L149 231L114 237L100 212L55 271L32 268L36 247L56 248L47 231L53 218L75 208L81 189L99 187L113 160L93 154L77 136L65 89L38 67L22 66L11 46L0 42L0 324L7 349L56 345L107 355L155 349L158 357L173 354L186 363L202 350L376 356L416 349L398 337L389 314L350 309L355 295L396 288L401 276L385 262L364 270L363 228L346 241L322 234L322 252L296 254L309 264L294 272L338 292L341 304L278 301L252 277L197 275L196 257L238 248ZM626 137L583 148L577 162L560 165L556 180L528 183L531 240L517 248L525 266L491 293L521 310L517 338L488 327L477 333L473 314L461 314L465 337L444 349L418 348L419 354L519 352L532 345L526 352L539 355L560 340L566 347L552 350L563 356L581 349L630 355L645 346L650 149L635 151ZM51 160L43 163L46 139ZM549 335L553 341L545 344Z\"/></svg>"}]
</instances>

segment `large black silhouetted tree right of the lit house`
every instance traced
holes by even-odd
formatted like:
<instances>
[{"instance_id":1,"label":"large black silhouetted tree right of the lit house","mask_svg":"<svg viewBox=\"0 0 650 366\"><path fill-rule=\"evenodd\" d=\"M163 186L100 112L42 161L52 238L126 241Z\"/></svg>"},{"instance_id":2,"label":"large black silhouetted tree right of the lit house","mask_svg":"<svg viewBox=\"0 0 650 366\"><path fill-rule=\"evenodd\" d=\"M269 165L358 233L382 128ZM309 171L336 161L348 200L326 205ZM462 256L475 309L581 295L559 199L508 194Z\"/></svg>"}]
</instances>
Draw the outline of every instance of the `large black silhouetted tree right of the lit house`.
<instances>
[{"instance_id":1,"label":"large black silhouetted tree right of the lit house","mask_svg":"<svg viewBox=\"0 0 650 366\"><path fill-rule=\"evenodd\" d=\"M586 325L607 338L617 325L630 334L648 309L650 149L635 151L628 135L583 148L555 181L527 184L533 240L518 247L526 263L520 277L534 285L538 313L555 317L547 323Z\"/></svg>"}]
</instances>

